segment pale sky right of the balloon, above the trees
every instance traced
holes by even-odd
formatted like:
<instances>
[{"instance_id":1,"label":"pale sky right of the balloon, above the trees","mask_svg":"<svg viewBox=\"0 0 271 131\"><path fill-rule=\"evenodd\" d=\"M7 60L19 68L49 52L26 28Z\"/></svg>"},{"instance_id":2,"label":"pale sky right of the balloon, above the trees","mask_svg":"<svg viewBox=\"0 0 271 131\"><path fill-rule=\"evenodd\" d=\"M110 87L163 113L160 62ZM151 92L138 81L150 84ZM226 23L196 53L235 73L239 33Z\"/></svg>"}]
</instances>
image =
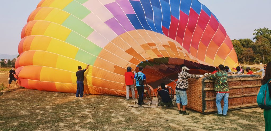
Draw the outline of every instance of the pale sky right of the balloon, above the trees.
<instances>
[{"instance_id":1,"label":"pale sky right of the balloon, above the trees","mask_svg":"<svg viewBox=\"0 0 271 131\"><path fill-rule=\"evenodd\" d=\"M255 29L271 29L271 0L199 0L215 14L231 40L252 38Z\"/></svg>"}]
</instances>

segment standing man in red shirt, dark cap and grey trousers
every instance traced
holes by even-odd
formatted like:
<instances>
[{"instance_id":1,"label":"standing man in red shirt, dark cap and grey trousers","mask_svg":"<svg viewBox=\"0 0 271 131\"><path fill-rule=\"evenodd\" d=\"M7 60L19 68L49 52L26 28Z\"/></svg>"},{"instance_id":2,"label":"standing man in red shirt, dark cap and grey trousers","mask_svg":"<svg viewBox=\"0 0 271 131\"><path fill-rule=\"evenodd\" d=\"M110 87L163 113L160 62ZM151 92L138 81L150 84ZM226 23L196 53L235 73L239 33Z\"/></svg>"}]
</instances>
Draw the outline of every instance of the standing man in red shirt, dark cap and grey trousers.
<instances>
[{"instance_id":1,"label":"standing man in red shirt, dark cap and grey trousers","mask_svg":"<svg viewBox=\"0 0 271 131\"><path fill-rule=\"evenodd\" d=\"M132 98L135 99L135 90L134 90L134 73L131 72L133 68L130 66L127 67L127 72L125 72L125 84L126 84L126 100L129 100L129 90L131 88Z\"/></svg>"}]
</instances>

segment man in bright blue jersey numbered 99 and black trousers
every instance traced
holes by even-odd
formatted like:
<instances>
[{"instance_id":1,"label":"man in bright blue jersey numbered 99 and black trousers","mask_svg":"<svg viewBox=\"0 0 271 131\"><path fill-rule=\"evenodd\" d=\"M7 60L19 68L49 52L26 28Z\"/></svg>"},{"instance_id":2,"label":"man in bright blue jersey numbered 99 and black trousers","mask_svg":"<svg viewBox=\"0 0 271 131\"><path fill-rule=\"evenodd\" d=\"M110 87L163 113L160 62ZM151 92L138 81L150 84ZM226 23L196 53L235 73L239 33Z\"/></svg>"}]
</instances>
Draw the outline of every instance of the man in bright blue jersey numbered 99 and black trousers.
<instances>
[{"instance_id":1,"label":"man in bright blue jersey numbered 99 and black trousers","mask_svg":"<svg viewBox=\"0 0 271 131\"><path fill-rule=\"evenodd\" d=\"M135 73L134 80L136 83L137 93L138 93L138 107L144 107L142 104L143 102L143 93L144 93L144 82L146 83L146 86L148 86L148 83L146 81L146 75L143 74L143 67L138 67L139 72ZM144 80L143 83L141 81Z\"/></svg>"}]
</instances>

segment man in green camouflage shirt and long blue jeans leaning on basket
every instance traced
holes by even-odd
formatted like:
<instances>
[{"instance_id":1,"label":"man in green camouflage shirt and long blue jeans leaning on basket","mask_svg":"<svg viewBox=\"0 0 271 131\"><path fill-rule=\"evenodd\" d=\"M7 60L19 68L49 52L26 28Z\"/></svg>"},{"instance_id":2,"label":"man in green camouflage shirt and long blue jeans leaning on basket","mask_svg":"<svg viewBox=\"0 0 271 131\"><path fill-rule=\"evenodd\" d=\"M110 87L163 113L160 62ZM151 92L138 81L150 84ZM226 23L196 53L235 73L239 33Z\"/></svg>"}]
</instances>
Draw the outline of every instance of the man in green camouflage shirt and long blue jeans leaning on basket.
<instances>
[{"instance_id":1,"label":"man in green camouflage shirt and long blue jeans leaning on basket","mask_svg":"<svg viewBox=\"0 0 271 131\"><path fill-rule=\"evenodd\" d=\"M215 103L217 105L217 114L218 116L226 116L228 111L228 97L229 97L229 85L227 81L227 72L223 71L224 66L218 66L218 72L212 75L208 75L207 78L210 80L215 80L215 91L217 92L217 96L215 99ZM221 108L221 100L223 98L224 106L223 113Z\"/></svg>"}]
</instances>

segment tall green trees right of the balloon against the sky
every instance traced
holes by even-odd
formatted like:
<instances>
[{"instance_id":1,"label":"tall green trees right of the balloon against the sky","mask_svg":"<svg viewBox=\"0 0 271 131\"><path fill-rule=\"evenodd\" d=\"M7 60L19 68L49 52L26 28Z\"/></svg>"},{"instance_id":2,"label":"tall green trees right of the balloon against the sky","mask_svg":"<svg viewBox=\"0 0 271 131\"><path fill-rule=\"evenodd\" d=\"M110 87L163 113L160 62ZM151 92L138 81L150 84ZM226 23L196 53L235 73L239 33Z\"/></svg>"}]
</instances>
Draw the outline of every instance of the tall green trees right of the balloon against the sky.
<instances>
[{"instance_id":1,"label":"tall green trees right of the balloon against the sky","mask_svg":"<svg viewBox=\"0 0 271 131\"><path fill-rule=\"evenodd\" d=\"M231 40L240 64L259 64L271 61L271 30L260 28L252 33L251 39Z\"/></svg>"}]
</instances>

